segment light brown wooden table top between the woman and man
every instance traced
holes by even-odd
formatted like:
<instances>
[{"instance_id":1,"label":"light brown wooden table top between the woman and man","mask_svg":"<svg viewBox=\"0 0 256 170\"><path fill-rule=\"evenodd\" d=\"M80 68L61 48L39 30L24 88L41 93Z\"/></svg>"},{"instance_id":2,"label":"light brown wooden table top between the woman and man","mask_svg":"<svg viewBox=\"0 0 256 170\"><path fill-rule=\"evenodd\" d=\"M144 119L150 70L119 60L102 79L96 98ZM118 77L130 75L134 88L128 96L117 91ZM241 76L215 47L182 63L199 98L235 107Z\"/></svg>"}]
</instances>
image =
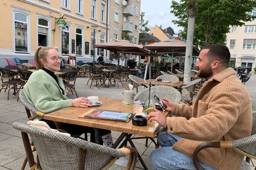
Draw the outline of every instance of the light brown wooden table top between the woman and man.
<instances>
[{"instance_id":1,"label":"light brown wooden table top between the woman and man","mask_svg":"<svg viewBox=\"0 0 256 170\"><path fill-rule=\"evenodd\" d=\"M59 111L54 111L52 113L45 114L44 119L56 122L65 122L75 125L114 130L122 133L131 133L148 137L154 137L158 130L160 129L160 125L155 121L148 122L148 125L146 126L134 126L132 125L132 120L130 120L129 122L119 122L113 120L79 118L79 116L90 111L91 109L124 111L135 113L135 115L143 115L143 107L140 104L126 105L122 104L122 100L120 99L110 99L101 97L99 98L99 101L102 102L102 105L89 108L64 108ZM163 111L163 114L166 117L169 115L167 111Z\"/></svg>"}]
</instances>

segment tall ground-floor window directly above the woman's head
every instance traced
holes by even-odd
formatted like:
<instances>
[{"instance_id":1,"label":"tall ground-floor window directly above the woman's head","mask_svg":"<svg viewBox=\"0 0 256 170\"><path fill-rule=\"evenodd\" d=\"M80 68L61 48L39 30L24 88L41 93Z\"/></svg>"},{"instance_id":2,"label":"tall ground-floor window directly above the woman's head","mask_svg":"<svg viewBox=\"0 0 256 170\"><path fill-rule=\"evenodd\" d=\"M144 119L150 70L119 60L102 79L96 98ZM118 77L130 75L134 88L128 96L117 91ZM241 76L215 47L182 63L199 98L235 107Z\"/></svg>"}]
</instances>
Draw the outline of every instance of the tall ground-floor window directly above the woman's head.
<instances>
[{"instance_id":1,"label":"tall ground-floor window directly above the woman's head","mask_svg":"<svg viewBox=\"0 0 256 170\"><path fill-rule=\"evenodd\" d=\"M48 39L48 21L42 18L38 19L38 46L47 46Z\"/></svg>"}]
</instances>

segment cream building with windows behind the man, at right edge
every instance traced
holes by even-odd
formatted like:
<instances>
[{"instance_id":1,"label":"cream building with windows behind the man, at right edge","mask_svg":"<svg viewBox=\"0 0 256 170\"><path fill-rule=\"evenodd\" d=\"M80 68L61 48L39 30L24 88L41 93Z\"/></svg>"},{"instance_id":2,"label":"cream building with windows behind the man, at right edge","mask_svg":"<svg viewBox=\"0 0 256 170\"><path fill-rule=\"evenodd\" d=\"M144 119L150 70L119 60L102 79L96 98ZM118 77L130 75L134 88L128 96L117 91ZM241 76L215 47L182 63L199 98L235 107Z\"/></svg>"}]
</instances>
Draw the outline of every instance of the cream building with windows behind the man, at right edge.
<instances>
[{"instance_id":1,"label":"cream building with windows behind the man, at right edge","mask_svg":"<svg viewBox=\"0 0 256 170\"><path fill-rule=\"evenodd\" d=\"M252 14L256 15L256 8ZM245 22L241 27L230 26L227 47L230 49L233 66L248 68L248 73L253 71L256 67L256 20Z\"/></svg>"}]
</instances>

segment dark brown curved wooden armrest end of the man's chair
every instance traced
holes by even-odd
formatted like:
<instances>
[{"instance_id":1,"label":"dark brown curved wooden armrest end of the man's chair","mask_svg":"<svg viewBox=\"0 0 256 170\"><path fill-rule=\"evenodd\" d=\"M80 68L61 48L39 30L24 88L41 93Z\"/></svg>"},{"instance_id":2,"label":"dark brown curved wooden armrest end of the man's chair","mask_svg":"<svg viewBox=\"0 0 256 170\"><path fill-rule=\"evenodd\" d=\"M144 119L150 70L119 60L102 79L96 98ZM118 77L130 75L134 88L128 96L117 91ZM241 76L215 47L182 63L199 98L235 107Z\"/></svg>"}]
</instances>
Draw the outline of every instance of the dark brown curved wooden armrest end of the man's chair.
<instances>
[{"instance_id":1,"label":"dark brown curved wooden armrest end of the man's chair","mask_svg":"<svg viewBox=\"0 0 256 170\"><path fill-rule=\"evenodd\" d=\"M195 166L195 168L197 170L204 170L199 164L198 164L198 159L197 159L197 155L198 153L207 148L207 147L221 147L221 142L217 141L217 142L204 142L204 143L201 143L199 144L195 150L194 150L194 153L193 153L193 156L192 156L192 159L193 159L193 164Z\"/></svg>"}]
</instances>

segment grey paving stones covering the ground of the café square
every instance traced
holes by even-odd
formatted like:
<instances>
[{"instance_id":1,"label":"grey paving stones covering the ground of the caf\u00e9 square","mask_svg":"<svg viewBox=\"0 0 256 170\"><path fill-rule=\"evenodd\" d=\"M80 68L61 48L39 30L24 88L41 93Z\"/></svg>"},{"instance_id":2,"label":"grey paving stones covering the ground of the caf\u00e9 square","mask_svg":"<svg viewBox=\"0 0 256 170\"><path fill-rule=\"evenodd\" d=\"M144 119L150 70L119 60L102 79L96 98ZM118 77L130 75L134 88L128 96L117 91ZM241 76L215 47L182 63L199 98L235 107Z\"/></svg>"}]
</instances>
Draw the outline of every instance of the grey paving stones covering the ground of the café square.
<instances>
[{"instance_id":1,"label":"grey paving stones covering the ground of the caf\u00e9 square","mask_svg":"<svg viewBox=\"0 0 256 170\"><path fill-rule=\"evenodd\" d=\"M88 78L78 78L76 81L76 90L79 96L100 96L108 98L122 99L122 85L110 86L105 88L103 85L96 88L90 82L87 84ZM250 96L252 97L252 107L256 110L256 76L252 76L245 86L247 87ZM139 90L141 90L139 88ZM14 96L13 91L10 92L10 99L7 100L7 92L1 91L0 93L0 170L19 170L25 158L25 150L21 139L20 132L12 128L14 122L27 122L25 108L20 101L17 102L18 95ZM69 95L70 98L75 98L76 95ZM194 98L195 99L195 98ZM113 139L116 140L121 133L112 132ZM90 138L90 136L89 136ZM156 139L155 139L156 140ZM149 140L148 147L145 147L145 139L136 139L133 141L137 147L138 152L142 155L145 164L149 170L154 170L149 162L149 155L155 149L154 143ZM256 161L253 162L254 166ZM29 169L28 164L26 169ZM143 169L138 161L136 170Z\"/></svg>"}]
</instances>

